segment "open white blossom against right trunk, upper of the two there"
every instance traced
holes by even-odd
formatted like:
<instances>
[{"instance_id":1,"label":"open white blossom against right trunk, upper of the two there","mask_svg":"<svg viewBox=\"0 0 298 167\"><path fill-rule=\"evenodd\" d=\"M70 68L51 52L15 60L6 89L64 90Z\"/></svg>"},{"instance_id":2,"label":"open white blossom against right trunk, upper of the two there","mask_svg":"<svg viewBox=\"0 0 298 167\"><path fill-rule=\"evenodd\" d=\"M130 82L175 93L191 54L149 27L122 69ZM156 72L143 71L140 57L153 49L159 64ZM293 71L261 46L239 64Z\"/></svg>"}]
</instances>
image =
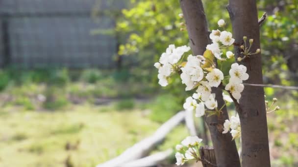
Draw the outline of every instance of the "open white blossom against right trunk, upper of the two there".
<instances>
[{"instance_id":1,"label":"open white blossom against right trunk, upper of the two there","mask_svg":"<svg viewBox=\"0 0 298 167\"><path fill-rule=\"evenodd\" d=\"M236 83L242 83L248 79L248 73L246 73L247 68L244 65L239 65L238 63L233 63L229 74L231 76L230 80Z\"/></svg>"}]
</instances>

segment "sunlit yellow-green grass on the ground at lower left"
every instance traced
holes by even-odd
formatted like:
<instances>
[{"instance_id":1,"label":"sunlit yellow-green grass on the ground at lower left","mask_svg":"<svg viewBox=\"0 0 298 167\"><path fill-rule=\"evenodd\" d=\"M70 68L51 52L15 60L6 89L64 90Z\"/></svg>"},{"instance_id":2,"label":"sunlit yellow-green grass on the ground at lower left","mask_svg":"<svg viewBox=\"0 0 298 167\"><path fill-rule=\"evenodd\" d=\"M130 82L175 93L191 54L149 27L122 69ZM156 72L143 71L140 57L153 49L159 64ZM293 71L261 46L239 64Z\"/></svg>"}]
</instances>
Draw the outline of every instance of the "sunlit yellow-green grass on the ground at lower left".
<instances>
[{"instance_id":1,"label":"sunlit yellow-green grass on the ground at lower left","mask_svg":"<svg viewBox=\"0 0 298 167\"><path fill-rule=\"evenodd\" d=\"M138 109L101 112L102 108L115 107L86 104L59 112L2 109L0 166L64 167L70 157L75 167L94 167L150 136L160 126ZM179 126L158 150L174 147L186 134L185 127ZM77 146L66 150L66 145Z\"/></svg>"}]
</instances>

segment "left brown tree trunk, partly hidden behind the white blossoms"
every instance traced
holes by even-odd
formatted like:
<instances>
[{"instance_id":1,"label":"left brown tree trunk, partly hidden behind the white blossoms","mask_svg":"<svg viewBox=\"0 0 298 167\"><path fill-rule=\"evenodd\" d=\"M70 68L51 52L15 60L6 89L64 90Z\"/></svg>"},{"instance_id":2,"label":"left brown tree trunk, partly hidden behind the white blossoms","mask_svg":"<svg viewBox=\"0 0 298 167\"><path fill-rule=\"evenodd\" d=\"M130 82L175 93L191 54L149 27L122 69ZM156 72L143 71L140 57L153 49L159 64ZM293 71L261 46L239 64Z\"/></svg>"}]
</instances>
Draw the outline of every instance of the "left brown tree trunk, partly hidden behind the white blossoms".
<instances>
[{"instance_id":1,"label":"left brown tree trunk, partly hidden behind the white blossoms","mask_svg":"<svg viewBox=\"0 0 298 167\"><path fill-rule=\"evenodd\" d=\"M190 46L194 55L202 55L205 47L211 41L209 39L208 25L201 0L180 0L181 9L186 21ZM214 88L216 100L219 106L224 105L222 90ZM239 155L235 142L229 133L222 134L220 129L224 120L228 119L227 110L224 107L221 119L217 116L205 117L205 122L210 130L212 143L215 150L217 167L240 167Z\"/></svg>"}]
</instances>

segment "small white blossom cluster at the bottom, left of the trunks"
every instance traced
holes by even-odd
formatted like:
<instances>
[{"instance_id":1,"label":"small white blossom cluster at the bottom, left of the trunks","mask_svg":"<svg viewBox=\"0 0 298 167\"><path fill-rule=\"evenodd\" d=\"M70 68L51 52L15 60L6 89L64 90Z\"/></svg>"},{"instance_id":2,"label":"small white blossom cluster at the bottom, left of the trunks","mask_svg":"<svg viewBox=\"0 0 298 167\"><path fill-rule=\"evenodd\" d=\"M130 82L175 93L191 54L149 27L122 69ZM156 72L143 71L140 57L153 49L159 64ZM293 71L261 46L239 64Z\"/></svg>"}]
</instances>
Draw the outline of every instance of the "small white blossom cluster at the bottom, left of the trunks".
<instances>
[{"instance_id":1,"label":"small white blossom cluster at the bottom, left of the trunks","mask_svg":"<svg viewBox=\"0 0 298 167\"><path fill-rule=\"evenodd\" d=\"M183 165L189 160L200 160L199 157L199 145L202 142L198 136L188 136L185 138L181 145L176 146L176 165Z\"/></svg>"}]
</instances>

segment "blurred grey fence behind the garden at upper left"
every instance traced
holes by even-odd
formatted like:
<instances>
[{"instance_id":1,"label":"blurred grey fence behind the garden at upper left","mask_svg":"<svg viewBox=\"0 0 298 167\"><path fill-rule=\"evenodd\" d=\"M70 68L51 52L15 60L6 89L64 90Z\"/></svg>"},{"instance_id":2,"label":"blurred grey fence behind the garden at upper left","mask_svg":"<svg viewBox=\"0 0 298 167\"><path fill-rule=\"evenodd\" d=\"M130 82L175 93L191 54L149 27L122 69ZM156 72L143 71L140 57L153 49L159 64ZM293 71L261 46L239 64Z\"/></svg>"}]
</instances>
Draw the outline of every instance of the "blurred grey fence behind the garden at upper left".
<instances>
[{"instance_id":1,"label":"blurred grey fence behind the garden at upper left","mask_svg":"<svg viewBox=\"0 0 298 167\"><path fill-rule=\"evenodd\" d=\"M95 21L90 13L99 12ZM1 0L0 65L20 68L101 67L115 65L114 34L92 35L93 29L114 29L121 0Z\"/></svg>"}]
</instances>

